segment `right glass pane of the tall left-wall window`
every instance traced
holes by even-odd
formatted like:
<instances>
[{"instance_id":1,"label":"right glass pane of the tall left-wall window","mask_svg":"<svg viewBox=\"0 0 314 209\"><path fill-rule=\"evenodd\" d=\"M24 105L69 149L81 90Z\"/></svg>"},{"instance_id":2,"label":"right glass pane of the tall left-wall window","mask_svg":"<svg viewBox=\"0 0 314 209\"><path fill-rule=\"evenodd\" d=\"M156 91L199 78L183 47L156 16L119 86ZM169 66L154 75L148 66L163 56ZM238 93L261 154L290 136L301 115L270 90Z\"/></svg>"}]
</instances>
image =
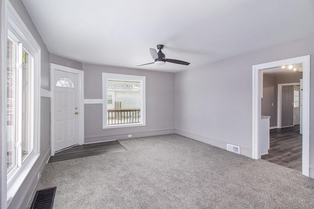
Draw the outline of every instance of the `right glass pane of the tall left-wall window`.
<instances>
[{"instance_id":1,"label":"right glass pane of the tall left-wall window","mask_svg":"<svg viewBox=\"0 0 314 209\"><path fill-rule=\"evenodd\" d=\"M22 53L22 160L24 160L28 153L32 150L30 138L30 73L31 56L23 50Z\"/></svg>"}]
</instances>

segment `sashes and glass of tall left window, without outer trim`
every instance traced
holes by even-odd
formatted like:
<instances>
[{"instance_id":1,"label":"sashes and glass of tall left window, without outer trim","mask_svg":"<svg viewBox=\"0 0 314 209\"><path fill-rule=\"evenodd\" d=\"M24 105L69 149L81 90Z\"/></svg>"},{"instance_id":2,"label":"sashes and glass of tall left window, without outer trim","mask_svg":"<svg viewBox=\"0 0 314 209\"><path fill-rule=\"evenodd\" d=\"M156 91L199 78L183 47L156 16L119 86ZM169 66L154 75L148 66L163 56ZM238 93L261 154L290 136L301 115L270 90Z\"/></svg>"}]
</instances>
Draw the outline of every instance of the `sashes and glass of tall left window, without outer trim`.
<instances>
[{"instance_id":1,"label":"sashes and glass of tall left window, without outer trim","mask_svg":"<svg viewBox=\"0 0 314 209\"><path fill-rule=\"evenodd\" d=\"M21 167L33 149L33 57L9 31L7 38L7 174Z\"/></svg>"}]
</instances>

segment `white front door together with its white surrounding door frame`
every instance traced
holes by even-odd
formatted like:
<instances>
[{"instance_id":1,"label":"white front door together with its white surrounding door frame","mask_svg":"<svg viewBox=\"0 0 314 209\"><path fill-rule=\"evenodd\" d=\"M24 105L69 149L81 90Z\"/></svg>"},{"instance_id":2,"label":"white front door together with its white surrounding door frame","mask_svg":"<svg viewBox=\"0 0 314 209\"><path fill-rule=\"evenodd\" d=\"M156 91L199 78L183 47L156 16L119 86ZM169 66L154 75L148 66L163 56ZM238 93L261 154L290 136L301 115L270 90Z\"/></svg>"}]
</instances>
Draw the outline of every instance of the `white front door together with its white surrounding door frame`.
<instances>
[{"instance_id":1,"label":"white front door together with its white surrounding door frame","mask_svg":"<svg viewBox=\"0 0 314 209\"><path fill-rule=\"evenodd\" d=\"M82 70L51 64L51 156L84 143Z\"/></svg>"}]
</instances>

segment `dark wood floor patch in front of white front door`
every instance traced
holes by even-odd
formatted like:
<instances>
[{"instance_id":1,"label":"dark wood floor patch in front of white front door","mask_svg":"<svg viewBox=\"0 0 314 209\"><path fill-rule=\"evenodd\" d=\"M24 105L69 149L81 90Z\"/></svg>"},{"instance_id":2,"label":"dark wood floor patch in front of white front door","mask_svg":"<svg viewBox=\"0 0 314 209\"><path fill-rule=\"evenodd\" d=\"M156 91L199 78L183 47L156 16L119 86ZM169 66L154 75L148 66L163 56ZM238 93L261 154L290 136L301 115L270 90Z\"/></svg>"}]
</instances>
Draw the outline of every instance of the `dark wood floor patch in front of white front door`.
<instances>
[{"instance_id":1,"label":"dark wood floor patch in front of white front door","mask_svg":"<svg viewBox=\"0 0 314 209\"><path fill-rule=\"evenodd\" d=\"M123 151L126 149L118 141L83 144L55 153L48 163Z\"/></svg>"}]
</instances>

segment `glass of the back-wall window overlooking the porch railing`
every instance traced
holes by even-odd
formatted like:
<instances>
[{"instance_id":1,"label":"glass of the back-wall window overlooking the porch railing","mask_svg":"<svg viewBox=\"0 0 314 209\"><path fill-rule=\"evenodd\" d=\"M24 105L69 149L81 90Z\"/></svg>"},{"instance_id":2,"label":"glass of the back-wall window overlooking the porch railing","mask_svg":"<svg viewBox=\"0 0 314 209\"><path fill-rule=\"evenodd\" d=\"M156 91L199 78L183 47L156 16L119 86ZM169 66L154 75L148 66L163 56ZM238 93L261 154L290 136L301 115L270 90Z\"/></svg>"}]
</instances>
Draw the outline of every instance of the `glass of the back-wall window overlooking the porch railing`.
<instances>
[{"instance_id":1,"label":"glass of the back-wall window overlooking the porch railing","mask_svg":"<svg viewBox=\"0 0 314 209\"><path fill-rule=\"evenodd\" d=\"M107 125L141 122L140 81L109 79L107 81L108 91L114 92L115 102L114 109L110 109L109 106L107 108Z\"/></svg>"}]
</instances>

